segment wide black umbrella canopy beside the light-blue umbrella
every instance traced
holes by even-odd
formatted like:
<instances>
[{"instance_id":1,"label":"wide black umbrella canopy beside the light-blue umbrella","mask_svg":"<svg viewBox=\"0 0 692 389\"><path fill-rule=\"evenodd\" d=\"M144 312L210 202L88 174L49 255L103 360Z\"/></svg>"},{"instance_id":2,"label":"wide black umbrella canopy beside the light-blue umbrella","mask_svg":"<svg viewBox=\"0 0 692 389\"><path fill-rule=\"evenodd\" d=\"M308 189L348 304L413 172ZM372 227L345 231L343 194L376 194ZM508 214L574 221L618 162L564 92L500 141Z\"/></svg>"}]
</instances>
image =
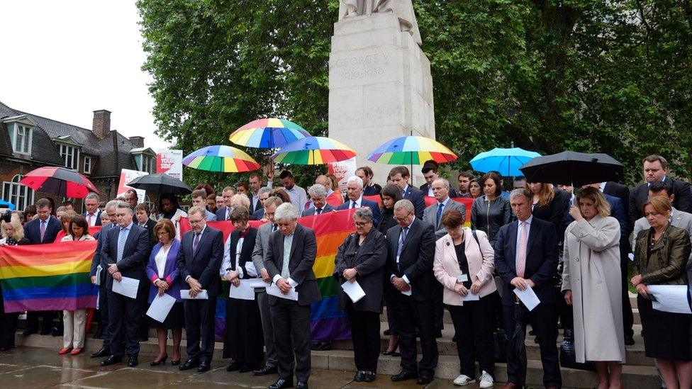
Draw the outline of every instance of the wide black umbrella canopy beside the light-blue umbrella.
<instances>
[{"instance_id":1,"label":"wide black umbrella canopy beside the light-blue umbrella","mask_svg":"<svg viewBox=\"0 0 692 389\"><path fill-rule=\"evenodd\" d=\"M623 178L623 164L610 155L571 151L535 157L519 170L528 182L571 186L620 181Z\"/></svg>"}]
</instances>

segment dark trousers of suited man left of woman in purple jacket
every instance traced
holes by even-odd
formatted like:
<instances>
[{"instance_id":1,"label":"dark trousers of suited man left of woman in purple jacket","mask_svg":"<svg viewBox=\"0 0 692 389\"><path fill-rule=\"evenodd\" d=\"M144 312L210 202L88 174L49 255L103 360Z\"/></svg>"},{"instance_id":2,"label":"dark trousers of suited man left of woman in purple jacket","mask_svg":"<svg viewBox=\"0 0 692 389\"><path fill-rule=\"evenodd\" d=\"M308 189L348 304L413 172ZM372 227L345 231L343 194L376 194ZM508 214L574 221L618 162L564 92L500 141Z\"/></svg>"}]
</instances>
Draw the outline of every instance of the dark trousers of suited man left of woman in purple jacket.
<instances>
[{"instance_id":1,"label":"dark trousers of suited man left of woman in purple jacket","mask_svg":"<svg viewBox=\"0 0 692 389\"><path fill-rule=\"evenodd\" d=\"M128 356L140 354L140 327L145 298L149 288L140 288L137 298L108 291L108 330L111 332L111 355L123 356L123 337Z\"/></svg>"}]
</instances>

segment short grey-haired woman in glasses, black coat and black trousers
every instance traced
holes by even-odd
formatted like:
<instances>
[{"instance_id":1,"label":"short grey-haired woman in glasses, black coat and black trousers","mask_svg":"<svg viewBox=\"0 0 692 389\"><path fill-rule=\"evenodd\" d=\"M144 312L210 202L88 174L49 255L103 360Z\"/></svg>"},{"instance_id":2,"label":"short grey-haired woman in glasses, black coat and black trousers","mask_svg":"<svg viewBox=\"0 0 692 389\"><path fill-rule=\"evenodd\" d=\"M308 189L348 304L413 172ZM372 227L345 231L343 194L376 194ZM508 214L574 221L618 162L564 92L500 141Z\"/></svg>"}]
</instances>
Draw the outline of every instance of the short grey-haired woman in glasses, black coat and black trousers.
<instances>
[{"instance_id":1,"label":"short grey-haired woman in glasses, black coat and black trousers","mask_svg":"<svg viewBox=\"0 0 692 389\"><path fill-rule=\"evenodd\" d=\"M355 302L339 288L339 304L351 325L357 382L372 382L379 356L379 315L382 277L387 257L384 235L372 226L372 210L358 208L353 215L356 233L344 240L336 254L333 276L339 283L358 283L365 292Z\"/></svg>"}]
</instances>

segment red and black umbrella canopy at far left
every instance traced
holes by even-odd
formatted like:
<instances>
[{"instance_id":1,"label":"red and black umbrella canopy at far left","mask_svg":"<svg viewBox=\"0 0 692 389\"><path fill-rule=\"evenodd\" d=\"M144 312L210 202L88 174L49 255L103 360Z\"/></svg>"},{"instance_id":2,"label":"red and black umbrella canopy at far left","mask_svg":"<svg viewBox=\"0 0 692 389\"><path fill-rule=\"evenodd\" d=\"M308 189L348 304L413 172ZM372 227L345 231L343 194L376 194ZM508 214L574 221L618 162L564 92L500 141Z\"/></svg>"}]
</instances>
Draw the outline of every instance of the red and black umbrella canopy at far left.
<instances>
[{"instance_id":1,"label":"red and black umbrella canopy at far left","mask_svg":"<svg viewBox=\"0 0 692 389\"><path fill-rule=\"evenodd\" d=\"M64 167L40 167L29 171L19 184L34 191L69 198L84 198L89 192L99 193L85 176Z\"/></svg>"}]
</instances>

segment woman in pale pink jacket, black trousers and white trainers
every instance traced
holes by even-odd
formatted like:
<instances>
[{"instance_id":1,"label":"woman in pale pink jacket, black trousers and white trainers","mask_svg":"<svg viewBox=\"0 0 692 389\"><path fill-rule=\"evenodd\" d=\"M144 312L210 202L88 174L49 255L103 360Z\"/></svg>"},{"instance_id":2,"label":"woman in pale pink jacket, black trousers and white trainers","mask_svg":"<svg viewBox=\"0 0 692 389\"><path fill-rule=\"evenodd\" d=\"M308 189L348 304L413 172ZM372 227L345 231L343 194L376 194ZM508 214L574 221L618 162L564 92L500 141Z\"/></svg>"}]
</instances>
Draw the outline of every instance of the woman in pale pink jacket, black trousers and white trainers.
<instances>
[{"instance_id":1,"label":"woman in pale pink jacket, black trousers and white trainers","mask_svg":"<svg viewBox=\"0 0 692 389\"><path fill-rule=\"evenodd\" d=\"M493 247L483 231L471 232L464 227L459 210L447 210L440 224L447 235L435 243L432 271L445 287L442 300L449 307L461 369L454 385L474 382L474 354L481 371L480 387L493 387L493 320L497 288L493 281L495 269ZM462 302L462 298L471 298Z\"/></svg>"}]
</instances>

